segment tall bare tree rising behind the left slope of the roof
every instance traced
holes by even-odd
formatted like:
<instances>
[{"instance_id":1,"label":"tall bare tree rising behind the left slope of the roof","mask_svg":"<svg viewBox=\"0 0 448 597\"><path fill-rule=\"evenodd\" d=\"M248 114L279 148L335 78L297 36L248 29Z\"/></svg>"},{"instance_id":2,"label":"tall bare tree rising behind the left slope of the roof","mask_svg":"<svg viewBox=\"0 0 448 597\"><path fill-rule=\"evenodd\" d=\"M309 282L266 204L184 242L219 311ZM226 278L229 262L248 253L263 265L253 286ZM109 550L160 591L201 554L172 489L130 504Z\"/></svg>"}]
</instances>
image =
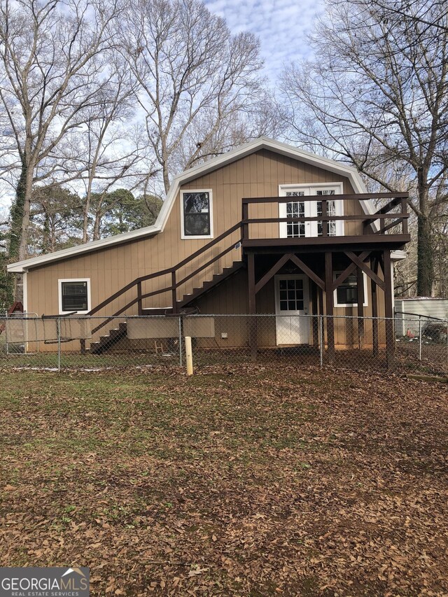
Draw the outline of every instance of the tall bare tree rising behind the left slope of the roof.
<instances>
[{"instance_id":1,"label":"tall bare tree rising behind the left slope of the roof","mask_svg":"<svg viewBox=\"0 0 448 597\"><path fill-rule=\"evenodd\" d=\"M259 42L199 0L129 0L120 43L167 191L174 170L235 143L260 96Z\"/></svg>"}]
</instances>

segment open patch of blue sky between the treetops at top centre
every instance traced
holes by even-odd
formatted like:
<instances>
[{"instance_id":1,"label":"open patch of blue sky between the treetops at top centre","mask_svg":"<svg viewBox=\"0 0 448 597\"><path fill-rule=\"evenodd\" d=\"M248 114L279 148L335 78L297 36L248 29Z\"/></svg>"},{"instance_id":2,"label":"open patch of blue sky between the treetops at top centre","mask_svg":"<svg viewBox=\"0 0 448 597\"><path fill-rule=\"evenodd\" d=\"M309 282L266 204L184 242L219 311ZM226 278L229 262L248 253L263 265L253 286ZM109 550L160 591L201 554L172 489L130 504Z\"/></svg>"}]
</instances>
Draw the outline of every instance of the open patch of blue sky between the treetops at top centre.
<instances>
[{"instance_id":1,"label":"open patch of blue sky between the treetops at top centre","mask_svg":"<svg viewBox=\"0 0 448 597\"><path fill-rule=\"evenodd\" d=\"M265 69L274 83L286 62L309 56L307 42L321 0L205 0L212 13L224 17L233 33L258 35Z\"/></svg>"}]
</instances>

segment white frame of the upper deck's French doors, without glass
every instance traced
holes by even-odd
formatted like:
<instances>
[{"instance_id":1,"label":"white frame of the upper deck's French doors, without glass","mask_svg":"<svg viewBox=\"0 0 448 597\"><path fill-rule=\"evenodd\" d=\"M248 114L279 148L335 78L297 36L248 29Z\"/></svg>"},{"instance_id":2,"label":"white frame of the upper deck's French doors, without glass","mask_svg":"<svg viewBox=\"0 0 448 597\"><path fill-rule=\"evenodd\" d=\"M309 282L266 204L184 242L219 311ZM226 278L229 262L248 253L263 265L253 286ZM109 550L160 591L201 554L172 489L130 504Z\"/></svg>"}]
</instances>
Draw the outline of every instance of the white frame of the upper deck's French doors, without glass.
<instances>
[{"instance_id":1,"label":"white frame of the upper deck's French doors, without glass","mask_svg":"<svg viewBox=\"0 0 448 597\"><path fill-rule=\"evenodd\" d=\"M294 184L287 184L287 185L279 185L279 197L286 197L286 192L290 190L298 190L303 191L304 195L314 195L314 193L318 190L334 190L335 195L343 195L344 194L344 183L342 181L335 182L335 183L294 183ZM318 197L318 195L316 195ZM327 195L327 197L333 197L332 195ZM316 199L316 205L318 201L322 199ZM300 197L291 197L291 202L300 202ZM335 208L336 208L336 216L343 216L344 215L344 202L342 200L334 199L335 201ZM311 206L314 206L314 202L305 202L305 217L314 217L311 216ZM279 218L286 218L286 203L279 203ZM286 237L286 222L279 223L279 238L287 238ZM344 236L344 220L336 220L336 237L343 237ZM305 236L304 238L321 238L317 236L317 221L316 222L306 222L305 223Z\"/></svg>"}]
</instances>

